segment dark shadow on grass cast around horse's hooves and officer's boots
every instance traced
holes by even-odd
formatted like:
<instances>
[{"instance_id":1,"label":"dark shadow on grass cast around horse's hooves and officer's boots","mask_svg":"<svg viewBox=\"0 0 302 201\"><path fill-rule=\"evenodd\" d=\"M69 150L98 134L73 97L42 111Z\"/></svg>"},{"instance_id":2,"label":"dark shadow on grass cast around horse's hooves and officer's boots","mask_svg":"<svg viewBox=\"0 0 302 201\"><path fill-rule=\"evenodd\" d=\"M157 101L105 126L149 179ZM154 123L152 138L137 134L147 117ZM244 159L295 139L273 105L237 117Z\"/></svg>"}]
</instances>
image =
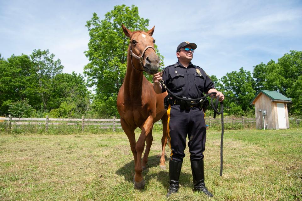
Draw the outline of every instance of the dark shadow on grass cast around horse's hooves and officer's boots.
<instances>
[{"instance_id":1,"label":"dark shadow on grass cast around horse's hooves and officer's boots","mask_svg":"<svg viewBox=\"0 0 302 201\"><path fill-rule=\"evenodd\" d=\"M146 185L148 185L148 181L150 181L152 178L155 178L157 181L162 183L163 187L168 189L169 188L169 158L165 156L166 170L162 170L159 167L159 159L160 157L158 155L149 156L146 169L143 170L142 174L144 180L147 181ZM157 173L149 174L149 168L151 167L158 167L160 170ZM133 176L135 174L134 160L132 160L131 162L125 164L123 167L118 169L116 171L116 174L124 176L126 181L133 183ZM192 187L193 186L192 175L187 174L185 172L181 172L180 185L182 185L183 187Z\"/></svg>"}]
</instances>

